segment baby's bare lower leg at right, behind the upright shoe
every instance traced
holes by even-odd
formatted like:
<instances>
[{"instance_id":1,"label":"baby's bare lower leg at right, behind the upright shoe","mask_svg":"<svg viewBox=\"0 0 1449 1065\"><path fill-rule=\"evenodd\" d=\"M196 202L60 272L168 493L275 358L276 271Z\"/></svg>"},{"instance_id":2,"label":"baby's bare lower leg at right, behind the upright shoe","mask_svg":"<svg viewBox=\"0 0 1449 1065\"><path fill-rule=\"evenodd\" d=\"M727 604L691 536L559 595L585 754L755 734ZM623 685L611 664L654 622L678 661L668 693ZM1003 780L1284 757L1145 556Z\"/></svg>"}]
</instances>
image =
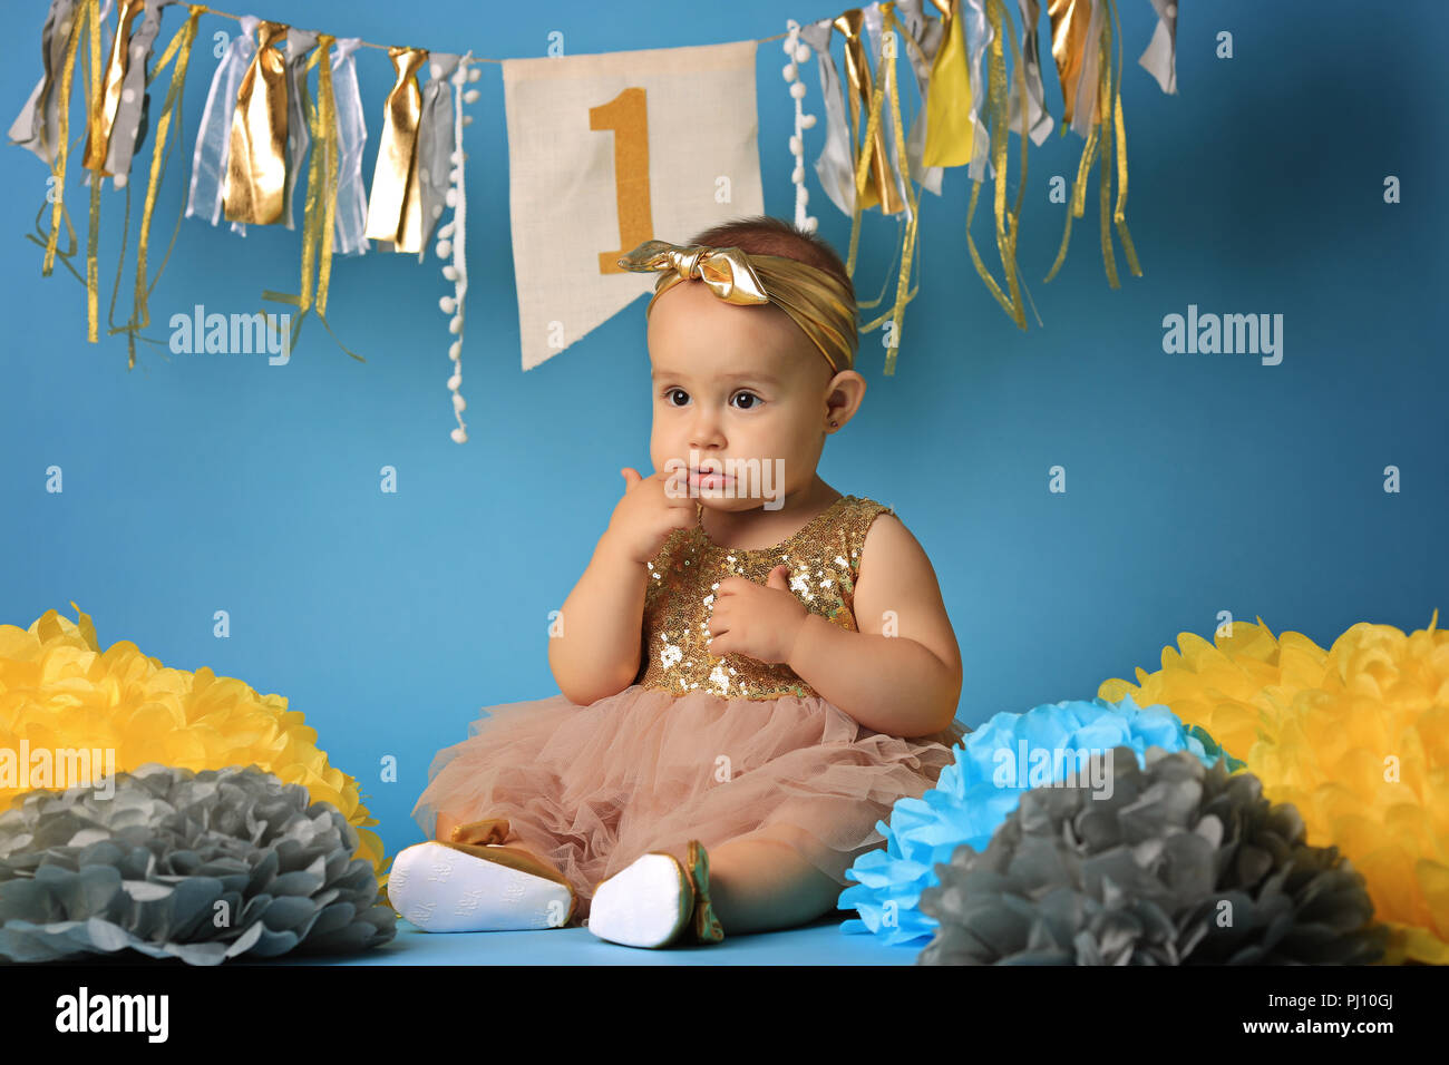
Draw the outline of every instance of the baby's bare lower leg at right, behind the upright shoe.
<instances>
[{"instance_id":1,"label":"baby's bare lower leg at right, behind the upright shoe","mask_svg":"<svg viewBox=\"0 0 1449 1065\"><path fill-rule=\"evenodd\" d=\"M845 888L801 858L791 835L777 826L709 849L710 903L726 939L809 924L835 910Z\"/></svg>"}]
</instances>

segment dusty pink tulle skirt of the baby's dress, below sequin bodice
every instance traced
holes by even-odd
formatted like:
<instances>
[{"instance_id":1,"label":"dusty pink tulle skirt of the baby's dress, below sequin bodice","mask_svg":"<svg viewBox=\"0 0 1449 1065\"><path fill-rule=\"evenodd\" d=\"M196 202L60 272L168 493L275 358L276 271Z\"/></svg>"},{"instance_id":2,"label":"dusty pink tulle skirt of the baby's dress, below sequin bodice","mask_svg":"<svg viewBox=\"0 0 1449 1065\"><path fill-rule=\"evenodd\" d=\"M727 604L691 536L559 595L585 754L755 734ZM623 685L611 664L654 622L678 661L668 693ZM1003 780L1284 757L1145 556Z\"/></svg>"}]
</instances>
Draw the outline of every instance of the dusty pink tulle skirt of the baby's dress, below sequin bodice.
<instances>
[{"instance_id":1,"label":"dusty pink tulle skirt of the baby's dress, below sequin bodice","mask_svg":"<svg viewBox=\"0 0 1449 1065\"><path fill-rule=\"evenodd\" d=\"M439 813L507 817L568 878L577 920L600 881L649 851L682 858L691 839L781 839L843 888L885 842L875 823L936 782L964 732L888 736L819 697L630 685L580 706L559 694L488 707L433 758L413 817L429 839Z\"/></svg>"}]
</instances>

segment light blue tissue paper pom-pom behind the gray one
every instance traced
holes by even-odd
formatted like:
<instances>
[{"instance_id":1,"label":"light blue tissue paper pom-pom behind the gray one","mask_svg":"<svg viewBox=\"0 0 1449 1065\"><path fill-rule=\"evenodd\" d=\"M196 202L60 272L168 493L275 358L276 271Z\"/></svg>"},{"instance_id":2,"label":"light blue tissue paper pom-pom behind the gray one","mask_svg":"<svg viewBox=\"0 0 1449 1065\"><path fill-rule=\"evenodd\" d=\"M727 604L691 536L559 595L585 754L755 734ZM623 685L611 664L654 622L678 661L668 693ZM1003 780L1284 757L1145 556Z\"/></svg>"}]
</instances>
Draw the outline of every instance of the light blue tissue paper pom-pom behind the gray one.
<instances>
[{"instance_id":1,"label":"light blue tissue paper pom-pom behind the gray one","mask_svg":"<svg viewBox=\"0 0 1449 1065\"><path fill-rule=\"evenodd\" d=\"M901 798L890 824L877 822L885 848L855 861L845 875L856 884L840 893L839 910L855 910L845 933L874 932L887 943L930 937L936 919L920 911L920 893L940 882L946 864L964 843L985 851L1032 787L1085 781L1087 756L1129 746L1146 768L1148 748L1188 751L1203 765L1227 758L1229 771L1245 764L1200 726L1184 726L1165 706L1139 709L1130 696L1043 703L1024 714L1003 710L953 748L956 761L940 771L920 798Z\"/></svg>"}]
</instances>

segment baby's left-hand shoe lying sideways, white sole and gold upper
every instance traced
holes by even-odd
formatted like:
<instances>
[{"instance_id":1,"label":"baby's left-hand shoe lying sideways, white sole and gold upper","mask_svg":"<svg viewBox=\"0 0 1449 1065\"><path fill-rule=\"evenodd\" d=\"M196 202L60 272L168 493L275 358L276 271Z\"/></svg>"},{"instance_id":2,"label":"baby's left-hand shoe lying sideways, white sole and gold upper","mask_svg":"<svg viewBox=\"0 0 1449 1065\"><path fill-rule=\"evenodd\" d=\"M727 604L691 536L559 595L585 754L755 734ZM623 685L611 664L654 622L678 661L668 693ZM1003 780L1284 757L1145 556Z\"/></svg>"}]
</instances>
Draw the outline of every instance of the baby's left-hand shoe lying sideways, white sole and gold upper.
<instances>
[{"instance_id":1,"label":"baby's left-hand shoe lying sideways, white sole and gold upper","mask_svg":"<svg viewBox=\"0 0 1449 1065\"><path fill-rule=\"evenodd\" d=\"M417 843L393 862L387 895L425 932L562 927L574 888L538 858L501 845Z\"/></svg>"}]
</instances>

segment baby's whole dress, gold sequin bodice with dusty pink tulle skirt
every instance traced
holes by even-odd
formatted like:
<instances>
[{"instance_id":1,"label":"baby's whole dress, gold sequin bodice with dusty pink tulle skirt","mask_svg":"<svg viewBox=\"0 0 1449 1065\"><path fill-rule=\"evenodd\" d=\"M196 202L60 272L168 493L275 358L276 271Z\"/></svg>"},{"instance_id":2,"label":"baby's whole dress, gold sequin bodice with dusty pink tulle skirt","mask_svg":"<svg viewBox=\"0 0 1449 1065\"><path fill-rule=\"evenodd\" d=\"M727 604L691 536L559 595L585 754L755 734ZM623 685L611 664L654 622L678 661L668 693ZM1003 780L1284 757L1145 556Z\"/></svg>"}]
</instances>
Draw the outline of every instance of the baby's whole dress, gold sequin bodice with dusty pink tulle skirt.
<instances>
[{"instance_id":1,"label":"baby's whole dress, gold sequin bodice with dusty pink tulle skirt","mask_svg":"<svg viewBox=\"0 0 1449 1065\"><path fill-rule=\"evenodd\" d=\"M790 667L714 656L704 640L719 581L764 584L781 562L806 609L858 630L859 555L881 513L893 511L842 496L758 549L719 546L698 525L675 530L648 565L635 682L588 706L556 694L488 707L467 740L438 752L413 817L429 838L439 811L507 817L574 885L575 920L600 881L690 839L716 848L784 835L846 887L845 869L885 842L875 823L936 782L965 730L874 732Z\"/></svg>"}]
</instances>

